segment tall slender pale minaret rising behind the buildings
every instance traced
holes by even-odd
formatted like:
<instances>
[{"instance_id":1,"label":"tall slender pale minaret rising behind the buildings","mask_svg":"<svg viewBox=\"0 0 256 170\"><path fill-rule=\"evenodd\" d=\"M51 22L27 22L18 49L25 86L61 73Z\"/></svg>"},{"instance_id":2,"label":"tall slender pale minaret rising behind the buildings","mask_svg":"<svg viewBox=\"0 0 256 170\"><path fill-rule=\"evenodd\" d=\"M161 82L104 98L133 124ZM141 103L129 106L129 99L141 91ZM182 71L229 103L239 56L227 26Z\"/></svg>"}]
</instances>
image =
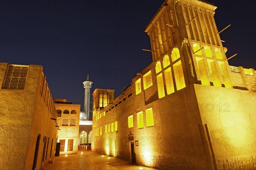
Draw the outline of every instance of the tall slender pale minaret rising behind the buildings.
<instances>
[{"instance_id":1,"label":"tall slender pale minaret rising behind the buildings","mask_svg":"<svg viewBox=\"0 0 256 170\"><path fill-rule=\"evenodd\" d=\"M93 82L90 82L89 75L87 75L86 81L84 84L84 112L87 114L87 119L89 120L90 114L90 88L92 87Z\"/></svg>"}]
</instances>

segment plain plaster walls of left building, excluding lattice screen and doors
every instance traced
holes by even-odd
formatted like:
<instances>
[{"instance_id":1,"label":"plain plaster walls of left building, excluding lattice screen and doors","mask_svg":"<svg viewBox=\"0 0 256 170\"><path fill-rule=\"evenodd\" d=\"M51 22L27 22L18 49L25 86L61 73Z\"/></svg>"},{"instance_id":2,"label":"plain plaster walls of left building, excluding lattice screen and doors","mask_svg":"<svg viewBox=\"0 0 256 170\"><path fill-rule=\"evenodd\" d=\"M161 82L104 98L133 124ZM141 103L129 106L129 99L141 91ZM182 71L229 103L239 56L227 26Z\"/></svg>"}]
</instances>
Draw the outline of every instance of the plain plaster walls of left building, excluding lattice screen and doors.
<instances>
[{"instance_id":1,"label":"plain plaster walls of left building, excluding lattice screen and doors","mask_svg":"<svg viewBox=\"0 0 256 170\"><path fill-rule=\"evenodd\" d=\"M7 65L0 63L1 86ZM24 90L0 89L0 169L32 169L38 133L41 133L41 139L44 135L51 138L56 135L55 122L50 119L51 114L38 93L41 71L42 66L29 65ZM48 148L47 157L49 153ZM37 169L41 166L41 155L42 144Z\"/></svg>"}]
</instances>

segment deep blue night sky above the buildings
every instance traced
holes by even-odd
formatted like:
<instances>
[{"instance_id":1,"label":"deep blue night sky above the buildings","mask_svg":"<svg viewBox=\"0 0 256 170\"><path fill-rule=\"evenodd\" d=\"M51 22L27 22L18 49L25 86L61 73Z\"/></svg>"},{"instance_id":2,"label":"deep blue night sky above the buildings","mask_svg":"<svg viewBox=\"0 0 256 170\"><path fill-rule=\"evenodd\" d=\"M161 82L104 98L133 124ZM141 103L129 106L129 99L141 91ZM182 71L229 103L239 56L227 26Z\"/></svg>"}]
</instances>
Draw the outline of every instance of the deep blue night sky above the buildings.
<instances>
[{"instance_id":1,"label":"deep blue night sky above the buildings","mask_svg":"<svg viewBox=\"0 0 256 170\"><path fill-rule=\"evenodd\" d=\"M256 68L256 1L208 0L230 65ZM145 26L164 0L0 0L0 62L43 65L53 98L83 108L82 82L115 97L151 63Z\"/></svg>"}]
</instances>

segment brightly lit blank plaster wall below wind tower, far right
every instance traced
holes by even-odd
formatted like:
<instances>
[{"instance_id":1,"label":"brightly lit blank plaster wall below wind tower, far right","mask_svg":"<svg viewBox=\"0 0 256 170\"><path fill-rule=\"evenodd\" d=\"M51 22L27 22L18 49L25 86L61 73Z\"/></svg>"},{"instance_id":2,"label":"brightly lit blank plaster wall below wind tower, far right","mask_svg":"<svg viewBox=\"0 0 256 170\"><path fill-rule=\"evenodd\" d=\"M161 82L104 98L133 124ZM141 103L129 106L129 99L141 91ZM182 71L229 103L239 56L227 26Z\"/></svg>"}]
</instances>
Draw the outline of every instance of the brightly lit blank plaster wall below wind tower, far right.
<instances>
[{"instance_id":1,"label":"brightly lit blank plaster wall below wind tower, far right","mask_svg":"<svg viewBox=\"0 0 256 170\"><path fill-rule=\"evenodd\" d=\"M218 169L255 168L256 93L194 86L198 103L202 103L201 118L209 128Z\"/></svg>"}]
</instances>

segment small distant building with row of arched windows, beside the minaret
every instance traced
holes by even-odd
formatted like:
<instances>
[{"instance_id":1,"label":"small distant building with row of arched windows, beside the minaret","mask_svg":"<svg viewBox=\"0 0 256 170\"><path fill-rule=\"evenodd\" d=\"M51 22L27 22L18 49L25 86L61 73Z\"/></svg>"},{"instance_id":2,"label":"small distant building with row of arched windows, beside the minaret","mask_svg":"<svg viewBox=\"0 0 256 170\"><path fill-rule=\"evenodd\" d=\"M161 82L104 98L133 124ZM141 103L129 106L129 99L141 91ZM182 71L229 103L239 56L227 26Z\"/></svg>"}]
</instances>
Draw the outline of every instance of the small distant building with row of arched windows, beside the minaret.
<instances>
[{"instance_id":1,"label":"small distant building with row of arched windows, beside the minaret","mask_svg":"<svg viewBox=\"0 0 256 170\"><path fill-rule=\"evenodd\" d=\"M58 142L60 155L76 154L79 143L79 116L80 105L67 102L66 99L54 99L57 111Z\"/></svg>"}]
</instances>

